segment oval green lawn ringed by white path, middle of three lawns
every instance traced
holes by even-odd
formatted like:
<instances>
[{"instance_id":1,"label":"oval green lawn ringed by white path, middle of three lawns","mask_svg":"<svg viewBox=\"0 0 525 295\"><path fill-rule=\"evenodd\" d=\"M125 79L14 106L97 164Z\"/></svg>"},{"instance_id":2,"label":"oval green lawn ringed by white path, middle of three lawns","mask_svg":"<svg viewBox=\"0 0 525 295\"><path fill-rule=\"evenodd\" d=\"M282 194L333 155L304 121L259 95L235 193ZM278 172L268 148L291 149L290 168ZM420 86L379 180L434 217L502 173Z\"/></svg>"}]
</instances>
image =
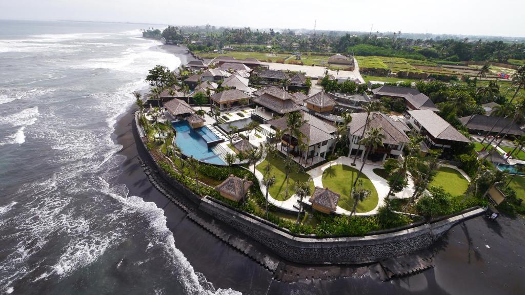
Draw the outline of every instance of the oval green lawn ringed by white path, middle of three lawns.
<instances>
[{"instance_id":1,"label":"oval green lawn ringed by white path, middle of three lawns","mask_svg":"<svg viewBox=\"0 0 525 295\"><path fill-rule=\"evenodd\" d=\"M322 182L325 188L329 188L332 191L341 194L339 199L339 207L352 210L354 205L353 199L350 197L350 186L357 177L359 171L346 165L333 165L323 172ZM377 196L377 191L375 190L372 182L366 177L366 175L361 174L359 178L363 181L363 187L370 189L371 194L363 202L358 204L356 212L364 213L369 212L375 208L377 202L379 202L379 197Z\"/></svg>"}]
</instances>

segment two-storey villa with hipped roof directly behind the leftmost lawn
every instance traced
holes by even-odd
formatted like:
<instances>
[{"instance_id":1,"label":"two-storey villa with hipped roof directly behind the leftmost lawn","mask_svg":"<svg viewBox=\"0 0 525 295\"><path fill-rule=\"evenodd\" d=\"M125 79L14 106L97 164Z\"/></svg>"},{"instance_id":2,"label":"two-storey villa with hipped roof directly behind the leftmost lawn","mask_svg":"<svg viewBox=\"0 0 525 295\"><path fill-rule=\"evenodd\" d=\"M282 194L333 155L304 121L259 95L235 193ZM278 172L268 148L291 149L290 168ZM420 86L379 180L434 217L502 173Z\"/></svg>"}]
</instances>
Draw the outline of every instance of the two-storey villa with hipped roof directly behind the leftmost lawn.
<instances>
[{"instance_id":1,"label":"two-storey villa with hipped roof directly behind the leftmost lawn","mask_svg":"<svg viewBox=\"0 0 525 295\"><path fill-rule=\"evenodd\" d=\"M335 141L335 131L337 129L330 123L324 122L321 119L301 111L302 120L305 121L299 132L301 133L301 142L290 132L287 132L282 137L278 149L286 154L287 148L289 153L293 156L293 160L304 167L309 167L313 164L324 161L328 153L333 148ZM271 129L287 129L287 117L281 117L268 121Z\"/></svg>"}]
</instances>

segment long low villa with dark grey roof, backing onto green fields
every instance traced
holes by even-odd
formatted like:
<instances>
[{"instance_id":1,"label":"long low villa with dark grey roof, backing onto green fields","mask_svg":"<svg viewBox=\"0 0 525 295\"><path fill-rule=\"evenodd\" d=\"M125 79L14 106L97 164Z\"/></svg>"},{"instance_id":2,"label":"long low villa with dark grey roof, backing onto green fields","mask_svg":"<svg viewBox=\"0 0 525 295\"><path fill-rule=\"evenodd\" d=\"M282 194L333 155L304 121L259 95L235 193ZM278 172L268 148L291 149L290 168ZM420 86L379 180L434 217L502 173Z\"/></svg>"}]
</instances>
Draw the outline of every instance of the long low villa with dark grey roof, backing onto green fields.
<instances>
[{"instance_id":1,"label":"long low villa with dark grey roof, backing onto green fields","mask_svg":"<svg viewBox=\"0 0 525 295\"><path fill-rule=\"evenodd\" d=\"M409 87L398 87L383 85L379 88L372 89L374 99L382 97L401 98L405 101L406 110L432 110L439 111L434 102L430 100L425 94L419 92L417 89Z\"/></svg>"}]
</instances>

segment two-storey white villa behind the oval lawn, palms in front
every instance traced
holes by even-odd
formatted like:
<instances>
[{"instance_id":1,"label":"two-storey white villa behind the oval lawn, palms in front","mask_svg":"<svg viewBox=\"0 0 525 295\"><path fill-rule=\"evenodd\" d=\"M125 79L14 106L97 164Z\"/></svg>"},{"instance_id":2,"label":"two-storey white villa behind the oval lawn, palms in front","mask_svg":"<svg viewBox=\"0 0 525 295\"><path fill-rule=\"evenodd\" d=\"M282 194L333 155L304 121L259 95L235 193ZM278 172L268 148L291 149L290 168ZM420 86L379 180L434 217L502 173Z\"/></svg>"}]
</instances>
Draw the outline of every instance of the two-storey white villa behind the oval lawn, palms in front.
<instances>
[{"instance_id":1,"label":"two-storey white villa behind the oval lawn, palms in front","mask_svg":"<svg viewBox=\"0 0 525 295\"><path fill-rule=\"evenodd\" d=\"M361 154L361 161L364 157L365 146L359 144L362 139L363 130L365 128L367 113L353 113L352 122L349 124L349 153L348 156ZM403 148L410 140L406 132L410 128L399 118L389 116L380 112L372 112L370 114L369 122L366 124L366 132L370 128L382 128L381 133L385 136L383 146L370 152L369 159L373 162L384 162L387 157L397 158L403 152Z\"/></svg>"}]
</instances>

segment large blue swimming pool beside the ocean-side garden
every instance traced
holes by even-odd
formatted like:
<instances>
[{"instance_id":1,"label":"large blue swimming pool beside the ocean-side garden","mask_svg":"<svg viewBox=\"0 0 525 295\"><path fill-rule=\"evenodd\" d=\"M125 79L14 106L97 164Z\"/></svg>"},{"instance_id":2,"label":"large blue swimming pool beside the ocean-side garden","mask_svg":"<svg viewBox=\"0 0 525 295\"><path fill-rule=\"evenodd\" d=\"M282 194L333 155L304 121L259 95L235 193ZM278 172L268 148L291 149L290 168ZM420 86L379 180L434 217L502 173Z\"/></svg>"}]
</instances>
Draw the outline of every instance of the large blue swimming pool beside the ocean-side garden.
<instances>
[{"instance_id":1,"label":"large blue swimming pool beside the ocean-side garden","mask_svg":"<svg viewBox=\"0 0 525 295\"><path fill-rule=\"evenodd\" d=\"M181 148L183 154L193 156L195 159L204 163L226 165L217 154L208 148L208 144L202 138L201 134L193 130L187 121L173 122L172 125L177 132L175 143ZM208 129L208 131L212 133L211 130ZM215 136L215 134L213 135Z\"/></svg>"}]
</instances>

